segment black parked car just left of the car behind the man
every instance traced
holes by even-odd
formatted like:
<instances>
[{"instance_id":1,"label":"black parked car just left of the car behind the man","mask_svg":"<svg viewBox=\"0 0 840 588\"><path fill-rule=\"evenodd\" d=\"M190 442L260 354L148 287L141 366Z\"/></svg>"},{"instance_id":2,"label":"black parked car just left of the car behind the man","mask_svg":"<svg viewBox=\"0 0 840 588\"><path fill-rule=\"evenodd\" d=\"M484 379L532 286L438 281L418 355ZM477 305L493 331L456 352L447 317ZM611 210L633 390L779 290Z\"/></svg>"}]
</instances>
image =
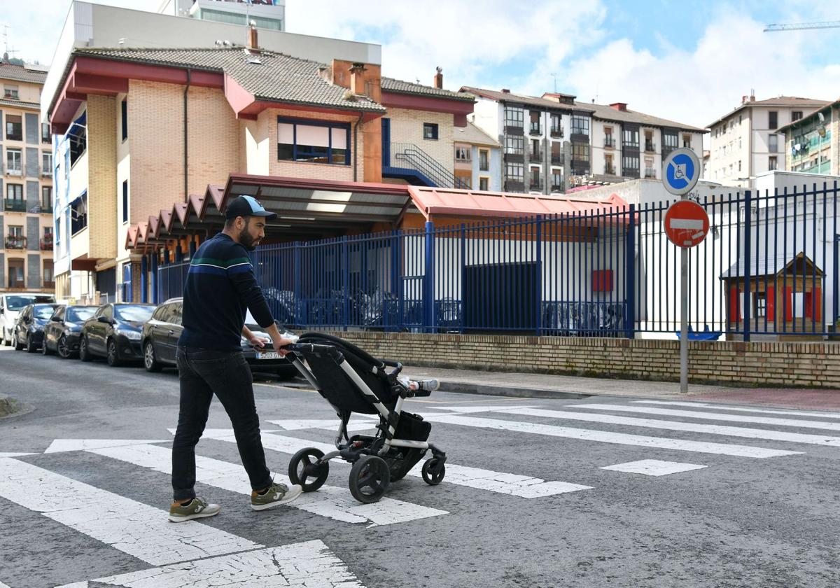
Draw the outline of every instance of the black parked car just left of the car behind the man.
<instances>
[{"instance_id":1,"label":"black parked car just left of the car behind the man","mask_svg":"<svg viewBox=\"0 0 840 588\"><path fill-rule=\"evenodd\" d=\"M112 366L142 360L141 331L152 312L155 312L154 304L117 302L98 307L81 327L79 359L104 357Z\"/></svg>"}]
</instances>

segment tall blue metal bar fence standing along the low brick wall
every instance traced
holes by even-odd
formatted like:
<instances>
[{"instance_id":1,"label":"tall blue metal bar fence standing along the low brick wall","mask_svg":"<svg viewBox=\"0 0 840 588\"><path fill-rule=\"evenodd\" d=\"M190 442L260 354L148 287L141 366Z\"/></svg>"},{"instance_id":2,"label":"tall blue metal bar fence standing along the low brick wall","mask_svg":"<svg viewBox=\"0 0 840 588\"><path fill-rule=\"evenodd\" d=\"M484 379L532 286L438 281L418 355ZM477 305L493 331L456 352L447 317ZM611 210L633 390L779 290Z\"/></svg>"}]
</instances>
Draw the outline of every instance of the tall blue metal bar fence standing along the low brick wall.
<instances>
[{"instance_id":1,"label":"tall blue metal bar fence standing along the low brick wall","mask_svg":"<svg viewBox=\"0 0 840 588\"><path fill-rule=\"evenodd\" d=\"M837 185L704 198L690 249L691 337L832 334ZM674 337L679 249L670 202L606 213L468 223L260 247L255 271L293 328ZM158 270L159 300L186 270Z\"/></svg>"}]
</instances>

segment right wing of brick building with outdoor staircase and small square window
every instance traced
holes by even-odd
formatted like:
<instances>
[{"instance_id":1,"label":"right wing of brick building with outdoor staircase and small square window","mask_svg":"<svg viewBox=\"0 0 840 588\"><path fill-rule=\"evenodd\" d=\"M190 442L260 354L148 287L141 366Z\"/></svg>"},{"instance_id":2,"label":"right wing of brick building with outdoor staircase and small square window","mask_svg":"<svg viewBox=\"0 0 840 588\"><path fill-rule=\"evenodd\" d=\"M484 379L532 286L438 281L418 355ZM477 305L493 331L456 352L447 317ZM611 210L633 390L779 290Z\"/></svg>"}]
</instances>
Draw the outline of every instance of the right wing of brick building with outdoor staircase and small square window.
<instances>
[{"instance_id":1,"label":"right wing of brick building with outdoor staircase and small square window","mask_svg":"<svg viewBox=\"0 0 840 588\"><path fill-rule=\"evenodd\" d=\"M381 103L387 108L382 118L386 181L469 187L464 181L464 162L456 164L454 154L455 136L466 129L467 115L473 112L475 100L470 94L445 90L438 68L433 86L381 78Z\"/></svg>"}]
</instances>

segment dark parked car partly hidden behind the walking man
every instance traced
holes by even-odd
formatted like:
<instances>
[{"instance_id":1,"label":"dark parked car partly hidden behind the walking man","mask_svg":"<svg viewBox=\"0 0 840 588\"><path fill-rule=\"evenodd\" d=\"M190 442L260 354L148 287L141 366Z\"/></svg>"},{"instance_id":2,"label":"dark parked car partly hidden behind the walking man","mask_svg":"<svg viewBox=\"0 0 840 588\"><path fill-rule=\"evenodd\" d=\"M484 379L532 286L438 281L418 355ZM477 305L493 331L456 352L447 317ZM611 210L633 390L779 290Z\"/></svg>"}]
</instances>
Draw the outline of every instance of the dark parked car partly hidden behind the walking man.
<instances>
[{"instance_id":1,"label":"dark parked car partly hidden behind the walking man","mask_svg":"<svg viewBox=\"0 0 840 588\"><path fill-rule=\"evenodd\" d=\"M182 298L171 298L160 304L147 323L143 325L143 365L148 371L160 371L166 365L176 365L175 352L178 338L184 328L181 326ZM245 317L245 326L259 337L270 339L268 333L256 323L251 313ZM297 368L289 360L280 357L274 349L257 351L247 339L241 339L242 352L252 371L270 372L282 379L297 375Z\"/></svg>"}]
</instances>

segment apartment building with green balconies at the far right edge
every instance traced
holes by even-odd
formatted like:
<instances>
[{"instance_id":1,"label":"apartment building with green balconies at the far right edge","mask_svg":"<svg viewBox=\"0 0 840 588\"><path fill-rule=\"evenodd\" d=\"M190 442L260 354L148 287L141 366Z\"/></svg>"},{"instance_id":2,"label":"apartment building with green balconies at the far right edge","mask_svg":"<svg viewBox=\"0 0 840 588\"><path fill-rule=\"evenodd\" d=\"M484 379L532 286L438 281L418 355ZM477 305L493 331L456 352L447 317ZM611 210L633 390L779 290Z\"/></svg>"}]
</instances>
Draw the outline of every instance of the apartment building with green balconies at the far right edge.
<instances>
[{"instance_id":1,"label":"apartment building with green balconies at the far right edge","mask_svg":"<svg viewBox=\"0 0 840 588\"><path fill-rule=\"evenodd\" d=\"M840 100L784 127L785 169L840 176Z\"/></svg>"}]
</instances>

